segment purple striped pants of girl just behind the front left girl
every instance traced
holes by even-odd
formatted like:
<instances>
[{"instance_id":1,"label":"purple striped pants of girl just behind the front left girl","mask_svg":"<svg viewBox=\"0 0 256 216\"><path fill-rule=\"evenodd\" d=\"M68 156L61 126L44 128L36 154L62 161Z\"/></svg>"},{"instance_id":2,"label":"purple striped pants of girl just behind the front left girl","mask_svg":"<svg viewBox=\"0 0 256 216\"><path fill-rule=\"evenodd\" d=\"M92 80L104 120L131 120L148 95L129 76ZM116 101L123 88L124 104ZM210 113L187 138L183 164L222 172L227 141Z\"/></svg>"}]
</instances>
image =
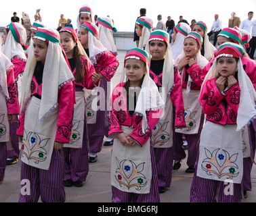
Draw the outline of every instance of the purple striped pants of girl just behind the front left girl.
<instances>
[{"instance_id":1,"label":"purple striped pants of girl just behind the front left girl","mask_svg":"<svg viewBox=\"0 0 256 216\"><path fill-rule=\"evenodd\" d=\"M66 180L85 182L89 172L86 117L83 128L82 148L63 148L63 151Z\"/></svg>"}]
</instances>

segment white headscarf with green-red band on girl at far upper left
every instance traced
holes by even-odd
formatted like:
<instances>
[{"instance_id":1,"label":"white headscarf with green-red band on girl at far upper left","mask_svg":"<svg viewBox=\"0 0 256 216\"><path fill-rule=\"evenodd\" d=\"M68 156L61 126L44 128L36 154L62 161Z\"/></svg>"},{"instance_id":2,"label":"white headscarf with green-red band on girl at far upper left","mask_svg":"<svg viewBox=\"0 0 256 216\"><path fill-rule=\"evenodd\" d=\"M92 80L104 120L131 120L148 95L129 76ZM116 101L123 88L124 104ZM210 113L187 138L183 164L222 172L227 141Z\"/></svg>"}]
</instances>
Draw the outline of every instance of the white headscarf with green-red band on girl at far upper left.
<instances>
[{"instance_id":1,"label":"white headscarf with green-red band on girl at far upper left","mask_svg":"<svg viewBox=\"0 0 256 216\"><path fill-rule=\"evenodd\" d=\"M11 61L14 56L26 59L24 49L22 48L22 45L26 43L26 29L18 22L12 22L7 26L7 28L10 28L10 30L7 34L5 45L3 45L2 48L3 54ZM14 30L14 28L16 28L16 30ZM18 38L20 41L18 41Z\"/></svg>"}]
</instances>

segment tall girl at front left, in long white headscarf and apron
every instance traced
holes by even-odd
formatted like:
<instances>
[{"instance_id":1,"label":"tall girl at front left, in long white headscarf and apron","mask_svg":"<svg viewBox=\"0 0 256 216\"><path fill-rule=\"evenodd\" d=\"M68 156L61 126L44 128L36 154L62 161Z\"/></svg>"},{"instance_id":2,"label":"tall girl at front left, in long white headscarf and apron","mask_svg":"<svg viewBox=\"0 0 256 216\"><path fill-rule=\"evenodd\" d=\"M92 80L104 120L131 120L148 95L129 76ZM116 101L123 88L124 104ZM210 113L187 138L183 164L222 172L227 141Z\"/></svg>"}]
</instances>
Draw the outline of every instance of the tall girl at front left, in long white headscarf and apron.
<instances>
[{"instance_id":1,"label":"tall girl at front left, in long white headscarf and apron","mask_svg":"<svg viewBox=\"0 0 256 216\"><path fill-rule=\"evenodd\" d=\"M22 78L20 124L22 142L19 202L64 202L64 158L70 142L74 110L74 76L60 45L58 31L38 28Z\"/></svg>"}]
</instances>

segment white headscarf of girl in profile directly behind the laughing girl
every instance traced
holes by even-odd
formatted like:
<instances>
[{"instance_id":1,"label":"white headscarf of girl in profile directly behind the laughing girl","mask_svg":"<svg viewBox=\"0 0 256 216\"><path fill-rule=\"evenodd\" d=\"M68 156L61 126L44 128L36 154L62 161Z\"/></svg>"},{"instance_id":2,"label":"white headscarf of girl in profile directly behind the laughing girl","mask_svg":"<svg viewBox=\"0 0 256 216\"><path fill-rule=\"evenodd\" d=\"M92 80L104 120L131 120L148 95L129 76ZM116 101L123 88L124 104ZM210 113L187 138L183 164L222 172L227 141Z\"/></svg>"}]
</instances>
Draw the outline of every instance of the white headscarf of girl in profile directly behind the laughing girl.
<instances>
[{"instance_id":1,"label":"white headscarf of girl in profile directly behind the laughing girl","mask_svg":"<svg viewBox=\"0 0 256 216\"><path fill-rule=\"evenodd\" d=\"M188 33L191 32L190 26L185 22L180 22L177 26L179 26L179 28L182 28L182 30L184 30L184 32L186 32L187 35ZM184 40L186 38L186 34L184 35L181 32L177 31L177 26L175 26L175 30L177 32L175 36L175 41L171 46L171 52L173 53L173 60L175 60L178 57L178 55L182 54L183 47L184 47Z\"/></svg>"}]
</instances>

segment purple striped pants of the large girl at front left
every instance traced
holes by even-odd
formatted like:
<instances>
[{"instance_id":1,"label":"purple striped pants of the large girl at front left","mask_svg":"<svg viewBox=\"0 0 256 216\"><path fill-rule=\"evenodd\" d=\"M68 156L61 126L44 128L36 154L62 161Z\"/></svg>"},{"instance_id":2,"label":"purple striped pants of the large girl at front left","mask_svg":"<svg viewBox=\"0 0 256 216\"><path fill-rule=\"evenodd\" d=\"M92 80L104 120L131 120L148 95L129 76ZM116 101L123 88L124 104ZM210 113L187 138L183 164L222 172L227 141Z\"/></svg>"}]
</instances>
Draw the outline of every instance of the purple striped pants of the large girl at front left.
<instances>
[{"instance_id":1,"label":"purple striped pants of the large girl at front left","mask_svg":"<svg viewBox=\"0 0 256 216\"><path fill-rule=\"evenodd\" d=\"M20 180L30 182L30 194L20 192L19 202L65 202L64 158L54 149L48 170L32 167L22 162Z\"/></svg>"}]
</instances>

